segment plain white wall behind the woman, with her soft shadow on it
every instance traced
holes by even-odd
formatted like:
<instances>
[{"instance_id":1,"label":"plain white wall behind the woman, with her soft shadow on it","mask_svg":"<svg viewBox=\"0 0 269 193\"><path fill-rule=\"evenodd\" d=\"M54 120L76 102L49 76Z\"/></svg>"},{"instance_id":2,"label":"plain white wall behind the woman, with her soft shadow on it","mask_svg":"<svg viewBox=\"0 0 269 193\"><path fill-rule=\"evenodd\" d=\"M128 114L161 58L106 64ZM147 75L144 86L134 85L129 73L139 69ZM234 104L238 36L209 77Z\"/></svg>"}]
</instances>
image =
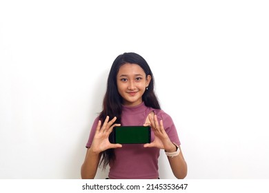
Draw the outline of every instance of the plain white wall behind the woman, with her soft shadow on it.
<instances>
[{"instance_id":1,"label":"plain white wall behind the woman, with her soft shadow on it","mask_svg":"<svg viewBox=\"0 0 269 193\"><path fill-rule=\"evenodd\" d=\"M268 10L266 1L0 1L0 179L80 179L123 52L152 68L186 179L268 179ZM174 178L163 152L159 167Z\"/></svg>"}]
</instances>

